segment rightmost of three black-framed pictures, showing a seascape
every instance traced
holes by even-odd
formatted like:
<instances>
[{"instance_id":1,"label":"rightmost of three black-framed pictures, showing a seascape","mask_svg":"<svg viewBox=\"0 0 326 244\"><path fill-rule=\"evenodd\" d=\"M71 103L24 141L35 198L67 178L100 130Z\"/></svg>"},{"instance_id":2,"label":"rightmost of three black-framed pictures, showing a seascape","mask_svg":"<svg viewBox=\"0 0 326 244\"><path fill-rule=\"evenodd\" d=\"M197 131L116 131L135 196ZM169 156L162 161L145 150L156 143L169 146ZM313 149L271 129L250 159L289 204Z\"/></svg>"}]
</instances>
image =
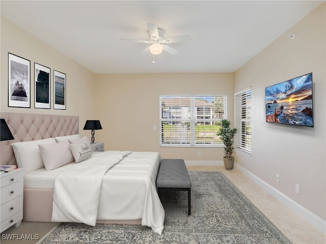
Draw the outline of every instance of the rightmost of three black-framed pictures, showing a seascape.
<instances>
[{"instance_id":1,"label":"rightmost of three black-framed pictures, showing a seascape","mask_svg":"<svg viewBox=\"0 0 326 244\"><path fill-rule=\"evenodd\" d=\"M66 109L66 74L53 70L55 106L54 109Z\"/></svg>"}]
</instances>

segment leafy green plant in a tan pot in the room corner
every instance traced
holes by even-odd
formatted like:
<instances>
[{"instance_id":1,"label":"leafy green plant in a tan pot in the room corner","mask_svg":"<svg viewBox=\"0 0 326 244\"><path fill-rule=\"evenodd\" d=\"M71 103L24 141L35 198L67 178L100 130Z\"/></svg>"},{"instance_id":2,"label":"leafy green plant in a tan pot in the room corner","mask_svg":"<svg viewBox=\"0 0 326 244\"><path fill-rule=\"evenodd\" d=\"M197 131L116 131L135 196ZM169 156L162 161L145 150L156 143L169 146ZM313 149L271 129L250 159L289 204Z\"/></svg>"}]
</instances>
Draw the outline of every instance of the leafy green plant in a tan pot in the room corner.
<instances>
[{"instance_id":1,"label":"leafy green plant in a tan pot in the room corner","mask_svg":"<svg viewBox=\"0 0 326 244\"><path fill-rule=\"evenodd\" d=\"M231 122L227 119L222 119L221 121L221 128L218 133L218 136L221 137L225 147L224 147L224 166L226 169L232 169L234 165L234 157L232 156L233 153L233 142L234 136L236 134L237 128L230 128Z\"/></svg>"}]
</instances>

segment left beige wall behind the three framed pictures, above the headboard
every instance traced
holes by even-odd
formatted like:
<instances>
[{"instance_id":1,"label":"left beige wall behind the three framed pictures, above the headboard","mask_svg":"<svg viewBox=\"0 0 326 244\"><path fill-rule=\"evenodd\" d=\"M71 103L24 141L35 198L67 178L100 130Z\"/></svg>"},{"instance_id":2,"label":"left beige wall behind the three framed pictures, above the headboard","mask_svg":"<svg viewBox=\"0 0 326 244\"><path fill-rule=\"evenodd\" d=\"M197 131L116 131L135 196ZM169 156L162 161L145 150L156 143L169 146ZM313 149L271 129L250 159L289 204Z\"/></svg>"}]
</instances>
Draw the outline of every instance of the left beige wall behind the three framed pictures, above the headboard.
<instances>
[{"instance_id":1,"label":"left beige wall behind the three framed pictures, above the headboard","mask_svg":"<svg viewBox=\"0 0 326 244\"><path fill-rule=\"evenodd\" d=\"M8 52L31 61L31 108L8 107ZM34 108L34 62L51 69L51 109ZM66 110L53 109L53 70L66 74ZM0 103L2 112L78 115L79 132L86 133L83 131L85 121L95 115L93 80L92 72L1 17Z\"/></svg>"}]
</instances>

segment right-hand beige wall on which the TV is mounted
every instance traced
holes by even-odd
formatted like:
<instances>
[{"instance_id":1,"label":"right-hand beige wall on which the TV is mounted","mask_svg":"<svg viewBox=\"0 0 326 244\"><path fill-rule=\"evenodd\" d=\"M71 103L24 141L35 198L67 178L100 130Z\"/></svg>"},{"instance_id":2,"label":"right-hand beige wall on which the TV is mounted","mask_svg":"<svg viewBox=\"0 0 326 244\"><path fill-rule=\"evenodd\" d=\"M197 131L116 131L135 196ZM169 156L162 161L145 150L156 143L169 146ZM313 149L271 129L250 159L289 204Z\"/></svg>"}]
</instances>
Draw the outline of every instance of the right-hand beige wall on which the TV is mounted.
<instances>
[{"instance_id":1,"label":"right-hand beige wall on which the TV is mounted","mask_svg":"<svg viewBox=\"0 0 326 244\"><path fill-rule=\"evenodd\" d=\"M325 217L325 3L234 73L252 86L252 156L236 162L314 214ZM295 39L289 37L295 34ZM265 87L313 72L314 128L265 122ZM276 182L280 174L280 182ZM301 193L295 193L300 184Z\"/></svg>"}]
</instances>

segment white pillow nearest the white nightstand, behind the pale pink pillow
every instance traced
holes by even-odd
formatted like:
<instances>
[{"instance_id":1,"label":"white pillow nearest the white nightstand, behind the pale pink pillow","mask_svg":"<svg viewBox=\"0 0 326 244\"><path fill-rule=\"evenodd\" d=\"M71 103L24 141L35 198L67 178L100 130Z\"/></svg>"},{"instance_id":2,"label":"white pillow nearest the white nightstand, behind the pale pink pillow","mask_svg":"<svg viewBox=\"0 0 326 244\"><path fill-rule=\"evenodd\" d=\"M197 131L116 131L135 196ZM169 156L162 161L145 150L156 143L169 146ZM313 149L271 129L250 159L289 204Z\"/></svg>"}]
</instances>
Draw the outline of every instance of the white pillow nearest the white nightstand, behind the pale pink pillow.
<instances>
[{"instance_id":1,"label":"white pillow nearest the white nightstand, behind the pale pink pillow","mask_svg":"<svg viewBox=\"0 0 326 244\"><path fill-rule=\"evenodd\" d=\"M42 161L39 144L55 143L55 138L12 143L18 167L23 168L25 173L43 168L44 164Z\"/></svg>"}]
</instances>

